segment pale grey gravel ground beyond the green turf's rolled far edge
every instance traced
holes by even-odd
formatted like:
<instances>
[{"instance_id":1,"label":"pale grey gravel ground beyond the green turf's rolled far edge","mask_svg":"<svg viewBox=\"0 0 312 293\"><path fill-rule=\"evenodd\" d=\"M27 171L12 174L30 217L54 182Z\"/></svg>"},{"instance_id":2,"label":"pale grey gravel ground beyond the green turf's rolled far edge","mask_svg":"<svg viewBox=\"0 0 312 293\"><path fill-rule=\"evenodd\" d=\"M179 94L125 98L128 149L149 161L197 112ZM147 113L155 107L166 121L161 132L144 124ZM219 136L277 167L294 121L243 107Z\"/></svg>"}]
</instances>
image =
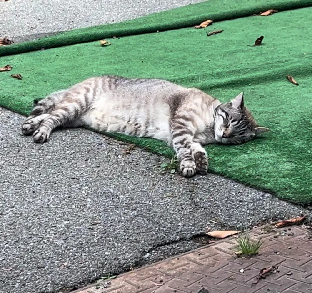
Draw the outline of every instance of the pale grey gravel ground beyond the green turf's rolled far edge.
<instances>
[{"instance_id":1,"label":"pale grey gravel ground beyond the green turf's rolled far edge","mask_svg":"<svg viewBox=\"0 0 312 293\"><path fill-rule=\"evenodd\" d=\"M120 22L203 0L0 0L1 34L18 37ZM1 36L0 36L1 37Z\"/></svg>"}]
</instances>

